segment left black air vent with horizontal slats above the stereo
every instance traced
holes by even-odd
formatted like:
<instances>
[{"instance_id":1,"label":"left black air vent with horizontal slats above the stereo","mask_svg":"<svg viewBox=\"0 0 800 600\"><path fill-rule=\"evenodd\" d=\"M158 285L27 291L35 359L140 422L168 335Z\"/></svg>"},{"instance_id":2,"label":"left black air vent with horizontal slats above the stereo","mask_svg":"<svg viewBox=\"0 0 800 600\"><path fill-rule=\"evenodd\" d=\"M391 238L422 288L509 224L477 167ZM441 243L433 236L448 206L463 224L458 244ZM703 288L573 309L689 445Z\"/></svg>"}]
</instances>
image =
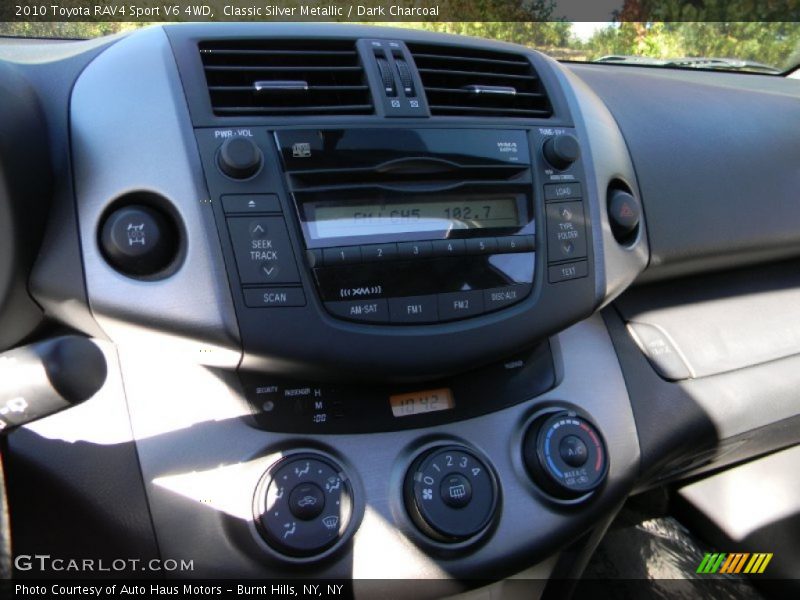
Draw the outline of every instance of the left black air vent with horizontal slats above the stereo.
<instances>
[{"instance_id":1,"label":"left black air vent with horizontal slats above the stereo","mask_svg":"<svg viewBox=\"0 0 800 600\"><path fill-rule=\"evenodd\" d=\"M200 57L219 116L372 114L353 42L201 42Z\"/></svg>"}]
</instances>

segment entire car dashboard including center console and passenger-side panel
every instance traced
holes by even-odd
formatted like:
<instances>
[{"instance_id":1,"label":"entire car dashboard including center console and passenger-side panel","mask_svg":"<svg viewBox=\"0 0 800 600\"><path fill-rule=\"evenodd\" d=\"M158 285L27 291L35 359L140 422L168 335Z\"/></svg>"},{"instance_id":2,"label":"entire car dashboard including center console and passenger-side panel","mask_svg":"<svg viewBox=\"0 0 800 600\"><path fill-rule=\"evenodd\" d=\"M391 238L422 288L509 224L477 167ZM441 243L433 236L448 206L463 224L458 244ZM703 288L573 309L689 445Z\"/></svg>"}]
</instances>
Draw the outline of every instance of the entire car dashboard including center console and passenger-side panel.
<instances>
[{"instance_id":1,"label":"entire car dashboard including center console and passenger-side panel","mask_svg":"<svg viewBox=\"0 0 800 600\"><path fill-rule=\"evenodd\" d=\"M314 24L0 59L4 347L109 365L6 439L17 554L546 581L800 439L800 81Z\"/></svg>"}]
</instances>

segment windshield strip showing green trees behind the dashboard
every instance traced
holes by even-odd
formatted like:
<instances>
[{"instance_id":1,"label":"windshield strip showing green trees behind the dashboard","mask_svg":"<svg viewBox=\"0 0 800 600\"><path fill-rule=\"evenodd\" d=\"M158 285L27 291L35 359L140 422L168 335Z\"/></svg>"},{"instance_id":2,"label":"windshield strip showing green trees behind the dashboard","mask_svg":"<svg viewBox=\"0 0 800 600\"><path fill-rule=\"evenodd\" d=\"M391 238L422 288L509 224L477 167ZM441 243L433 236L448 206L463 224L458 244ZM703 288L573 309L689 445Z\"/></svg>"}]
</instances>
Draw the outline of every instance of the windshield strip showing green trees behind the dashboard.
<instances>
[{"instance_id":1,"label":"windshield strip showing green trees behind the dashboard","mask_svg":"<svg viewBox=\"0 0 800 600\"><path fill-rule=\"evenodd\" d=\"M1 22L0 35L87 39L144 22ZM800 64L795 22L391 22L522 44L558 60L780 73Z\"/></svg>"}]
</instances>

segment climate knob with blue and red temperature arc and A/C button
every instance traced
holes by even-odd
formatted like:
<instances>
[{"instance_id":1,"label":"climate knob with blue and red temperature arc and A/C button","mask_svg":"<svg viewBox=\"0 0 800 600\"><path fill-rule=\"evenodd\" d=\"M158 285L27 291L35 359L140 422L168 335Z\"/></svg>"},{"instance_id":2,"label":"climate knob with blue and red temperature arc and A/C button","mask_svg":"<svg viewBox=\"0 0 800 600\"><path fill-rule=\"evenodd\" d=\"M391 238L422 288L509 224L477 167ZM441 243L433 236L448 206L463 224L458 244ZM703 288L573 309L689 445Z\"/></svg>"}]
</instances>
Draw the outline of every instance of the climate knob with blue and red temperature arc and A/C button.
<instances>
[{"instance_id":1,"label":"climate knob with blue and red temperature arc and A/C button","mask_svg":"<svg viewBox=\"0 0 800 600\"><path fill-rule=\"evenodd\" d=\"M608 472L603 438L574 412L549 413L534 421L525 435L522 456L533 480L557 498L589 494Z\"/></svg>"}]
</instances>

